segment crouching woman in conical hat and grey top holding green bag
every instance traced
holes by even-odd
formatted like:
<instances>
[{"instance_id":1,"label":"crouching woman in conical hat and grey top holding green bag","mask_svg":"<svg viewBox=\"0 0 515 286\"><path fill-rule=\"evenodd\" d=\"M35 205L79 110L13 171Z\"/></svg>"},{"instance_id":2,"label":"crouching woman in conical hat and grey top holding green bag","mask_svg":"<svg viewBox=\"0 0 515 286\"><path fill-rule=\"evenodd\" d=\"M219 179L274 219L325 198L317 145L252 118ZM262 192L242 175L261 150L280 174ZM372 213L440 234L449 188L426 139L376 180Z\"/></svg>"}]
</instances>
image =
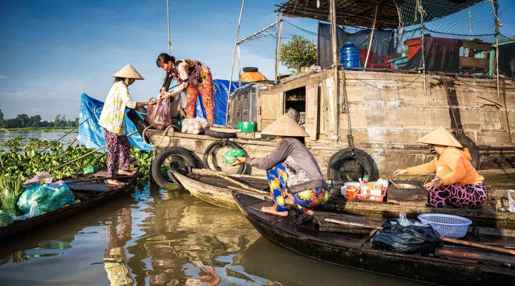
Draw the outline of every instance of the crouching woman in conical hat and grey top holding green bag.
<instances>
[{"instance_id":1,"label":"crouching woman in conical hat and grey top holding green bag","mask_svg":"<svg viewBox=\"0 0 515 286\"><path fill-rule=\"evenodd\" d=\"M276 148L264 158L237 157L232 166L245 163L267 170L273 206L263 207L263 212L288 216L284 199L289 196L301 212L297 222L311 219L313 209L323 206L329 199L329 186L315 158L299 140L309 135L288 114L274 121L261 134L274 136Z\"/></svg>"}]
</instances>

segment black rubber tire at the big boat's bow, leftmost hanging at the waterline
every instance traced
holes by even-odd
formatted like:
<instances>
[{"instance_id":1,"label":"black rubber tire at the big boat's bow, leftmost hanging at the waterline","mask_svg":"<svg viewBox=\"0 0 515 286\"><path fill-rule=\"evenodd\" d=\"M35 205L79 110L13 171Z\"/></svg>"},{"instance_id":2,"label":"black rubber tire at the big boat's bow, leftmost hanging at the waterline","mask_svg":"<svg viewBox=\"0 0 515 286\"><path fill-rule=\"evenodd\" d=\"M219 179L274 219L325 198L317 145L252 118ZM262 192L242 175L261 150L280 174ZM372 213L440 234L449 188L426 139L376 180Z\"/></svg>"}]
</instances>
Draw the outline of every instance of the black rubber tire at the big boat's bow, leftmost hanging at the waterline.
<instances>
[{"instance_id":1,"label":"black rubber tire at the big boat's bow, leftmost hanging at the waterline","mask_svg":"<svg viewBox=\"0 0 515 286\"><path fill-rule=\"evenodd\" d=\"M166 190L173 190L178 191L177 186L181 187L177 183L177 180L175 177L170 176L170 181L166 180L163 175L161 174L161 166L165 162L166 158L169 156L178 156L184 159L187 166L183 166L186 169L187 168L195 168L195 159L193 158L192 154L190 154L190 151L182 148L182 147L168 147L163 149L161 152L159 152L155 158L152 160L152 165L150 166L151 175L153 178L153 181L156 182L161 188ZM178 169L174 169L174 171L179 171ZM185 172L184 172L185 173ZM181 187L182 188L182 187Z\"/></svg>"}]
</instances>

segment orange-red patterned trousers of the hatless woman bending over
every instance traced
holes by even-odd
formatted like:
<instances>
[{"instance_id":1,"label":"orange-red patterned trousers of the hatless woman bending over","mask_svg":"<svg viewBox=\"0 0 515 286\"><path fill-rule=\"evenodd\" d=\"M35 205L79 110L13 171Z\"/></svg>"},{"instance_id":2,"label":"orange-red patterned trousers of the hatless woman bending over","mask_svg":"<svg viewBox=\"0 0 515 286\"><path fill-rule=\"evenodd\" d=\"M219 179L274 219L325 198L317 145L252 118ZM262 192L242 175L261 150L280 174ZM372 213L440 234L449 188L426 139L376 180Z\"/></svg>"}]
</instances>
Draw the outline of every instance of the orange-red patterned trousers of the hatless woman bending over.
<instances>
[{"instance_id":1,"label":"orange-red patterned trousers of the hatless woman bending over","mask_svg":"<svg viewBox=\"0 0 515 286\"><path fill-rule=\"evenodd\" d=\"M189 84L186 88L186 117L195 117L195 103L197 102L198 94L202 98L204 104L205 115L208 117L208 122L213 122L215 117L214 111L214 89L213 89L213 76L208 74L207 79L202 84L200 91L194 84Z\"/></svg>"}]
</instances>

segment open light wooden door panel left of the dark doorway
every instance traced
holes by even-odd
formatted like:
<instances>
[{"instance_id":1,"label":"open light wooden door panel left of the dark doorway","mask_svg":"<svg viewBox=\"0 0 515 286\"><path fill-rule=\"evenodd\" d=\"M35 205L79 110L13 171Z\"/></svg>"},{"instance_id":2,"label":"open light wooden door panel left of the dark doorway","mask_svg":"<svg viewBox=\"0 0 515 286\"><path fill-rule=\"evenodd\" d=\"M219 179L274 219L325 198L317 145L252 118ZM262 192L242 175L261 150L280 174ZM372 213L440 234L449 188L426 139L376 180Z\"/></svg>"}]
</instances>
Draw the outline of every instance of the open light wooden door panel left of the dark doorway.
<instances>
[{"instance_id":1,"label":"open light wooden door panel left of the dark doorway","mask_svg":"<svg viewBox=\"0 0 515 286\"><path fill-rule=\"evenodd\" d=\"M284 114L284 93L260 91L258 94L258 130L261 131Z\"/></svg>"}]
</instances>

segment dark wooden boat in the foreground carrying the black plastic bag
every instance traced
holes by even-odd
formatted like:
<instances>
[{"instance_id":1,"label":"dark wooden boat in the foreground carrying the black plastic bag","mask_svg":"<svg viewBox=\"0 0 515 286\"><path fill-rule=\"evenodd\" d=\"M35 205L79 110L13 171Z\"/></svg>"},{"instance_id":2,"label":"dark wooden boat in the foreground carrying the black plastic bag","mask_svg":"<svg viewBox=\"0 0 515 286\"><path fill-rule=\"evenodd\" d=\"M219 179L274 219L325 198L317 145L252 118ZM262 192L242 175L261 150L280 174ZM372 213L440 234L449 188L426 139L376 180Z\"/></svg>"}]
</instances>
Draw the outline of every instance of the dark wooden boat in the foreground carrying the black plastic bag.
<instances>
[{"instance_id":1,"label":"dark wooden boat in the foreground carrying the black plastic bag","mask_svg":"<svg viewBox=\"0 0 515 286\"><path fill-rule=\"evenodd\" d=\"M294 211L280 218L260 209L270 203L248 194L234 194L239 209L266 239L291 251L355 269L438 285L515 283L515 256L469 247L443 246L432 255L407 255L371 248L369 234L318 230L315 222L296 225ZM477 240L476 240L477 241ZM505 242L505 240L502 240ZM490 238L489 242L493 240ZM456 257L460 257L459 259Z\"/></svg>"}]
</instances>

